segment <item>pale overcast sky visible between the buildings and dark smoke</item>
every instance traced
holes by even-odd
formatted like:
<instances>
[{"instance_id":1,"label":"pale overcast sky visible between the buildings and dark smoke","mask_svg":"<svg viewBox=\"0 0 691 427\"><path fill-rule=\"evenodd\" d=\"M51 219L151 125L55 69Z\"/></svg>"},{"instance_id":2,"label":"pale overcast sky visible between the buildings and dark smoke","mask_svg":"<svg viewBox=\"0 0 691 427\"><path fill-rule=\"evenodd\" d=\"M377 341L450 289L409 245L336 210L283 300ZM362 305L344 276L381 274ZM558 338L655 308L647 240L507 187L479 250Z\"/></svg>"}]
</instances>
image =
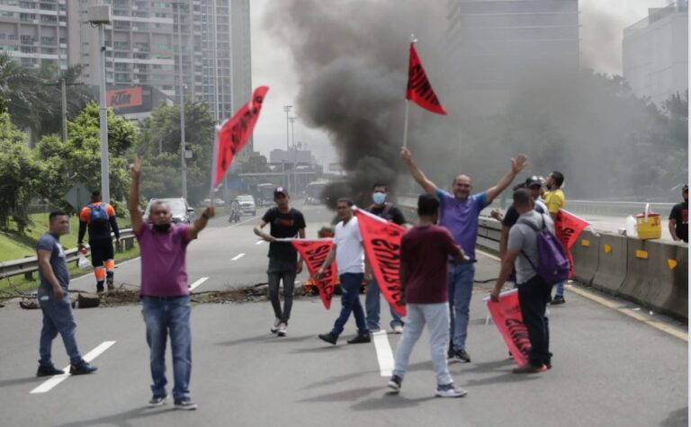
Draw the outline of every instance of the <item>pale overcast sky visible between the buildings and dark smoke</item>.
<instances>
[{"instance_id":1,"label":"pale overcast sky visible between the buildings and dark smoke","mask_svg":"<svg viewBox=\"0 0 691 427\"><path fill-rule=\"evenodd\" d=\"M283 106L294 105L299 90L296 76L292 71L290 52L280 41L274 40L263 31L264 13L278 1L281 0L250 1L252 84L255 87L270 87L255 129L254 141L255 150L267 157L274 148L286 147L286 118ZM337 0L328 1L337 4ZM598 72L621 74L624 28L646 17L649 7L660 7L669 3L669 0L580 0L581 65ZM293 107L292 113L298 111L294 111ZM319 159L319 163L337 162L336 153L324 133L304 127L300 120L295 122L294 127L295 141L307 144L308 149Z\"/></svg>"}]
</instances>

